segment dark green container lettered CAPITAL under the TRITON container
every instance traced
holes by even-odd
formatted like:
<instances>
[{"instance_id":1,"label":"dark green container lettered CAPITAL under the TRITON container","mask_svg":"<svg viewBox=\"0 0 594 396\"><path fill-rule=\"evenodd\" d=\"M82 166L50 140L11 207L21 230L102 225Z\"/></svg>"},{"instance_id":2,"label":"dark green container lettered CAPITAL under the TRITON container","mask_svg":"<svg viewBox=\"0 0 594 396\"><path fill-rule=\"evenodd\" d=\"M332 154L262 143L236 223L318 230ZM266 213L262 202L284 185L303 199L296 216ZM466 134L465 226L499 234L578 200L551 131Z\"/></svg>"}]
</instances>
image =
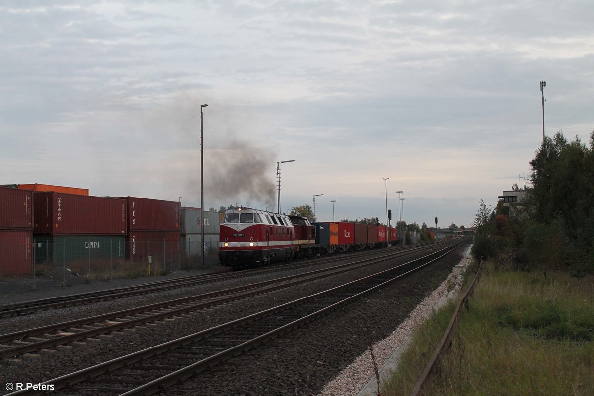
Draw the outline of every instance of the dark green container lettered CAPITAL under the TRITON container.
<instances>
[{"instance_id":1,"label":"dark green container lettered CAPITAL under the TRITON container","mask_svg":"<svg viewBox=\"0 0 594 396\"><path fill-rule=\"evenodd\" d=\"M124 261L125 237L116 235L36 235L35 264L109 264Z\"/></svg>"}]
</instances>

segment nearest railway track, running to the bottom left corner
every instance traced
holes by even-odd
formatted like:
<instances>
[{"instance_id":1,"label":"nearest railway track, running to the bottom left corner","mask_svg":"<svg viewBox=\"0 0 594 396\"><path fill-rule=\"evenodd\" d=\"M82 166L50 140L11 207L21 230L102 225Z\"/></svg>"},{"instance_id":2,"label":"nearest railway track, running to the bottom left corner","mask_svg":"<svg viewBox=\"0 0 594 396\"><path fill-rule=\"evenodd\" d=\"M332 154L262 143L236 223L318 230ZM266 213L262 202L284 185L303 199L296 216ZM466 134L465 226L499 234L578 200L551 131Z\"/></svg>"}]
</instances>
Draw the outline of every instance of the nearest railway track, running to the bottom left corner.
<instances>
[{"instance_id":1,"label":"nearest railway track, running to the bottom left corner","mask_svg":"<svg viewBox=\"0 0 594 396\"><path fill-rule=\"evenodd\" d=\"M454 251L452 243L421 259L228 323L43 382L55 395L153 394L194 373L315 321ZM17 391L9 395L41 394Z\"/></svg>"}]
</instances>

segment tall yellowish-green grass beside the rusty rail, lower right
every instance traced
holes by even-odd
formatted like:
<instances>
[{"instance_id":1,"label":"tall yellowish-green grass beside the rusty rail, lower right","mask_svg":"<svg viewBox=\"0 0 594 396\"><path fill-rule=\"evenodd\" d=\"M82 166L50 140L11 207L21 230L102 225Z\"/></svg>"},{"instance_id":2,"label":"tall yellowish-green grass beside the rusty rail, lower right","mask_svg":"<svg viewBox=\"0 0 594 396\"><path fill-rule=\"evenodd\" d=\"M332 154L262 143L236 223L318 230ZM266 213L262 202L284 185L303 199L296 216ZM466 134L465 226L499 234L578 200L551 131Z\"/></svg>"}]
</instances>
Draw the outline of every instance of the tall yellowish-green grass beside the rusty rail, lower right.
<instances>
[{"instance_id":1,"label":"tall yellowish-green grass beside the rusty rail, lower right","mask_svg":"<svg viewBox=\"0 0 594 396\"><path fill-rule=\"evenodd\" d=\"M594 395L594 277L487 271L429 395ZM413 336L384 395L407 395L454 305Z\"/></svg>"}]
</instances>

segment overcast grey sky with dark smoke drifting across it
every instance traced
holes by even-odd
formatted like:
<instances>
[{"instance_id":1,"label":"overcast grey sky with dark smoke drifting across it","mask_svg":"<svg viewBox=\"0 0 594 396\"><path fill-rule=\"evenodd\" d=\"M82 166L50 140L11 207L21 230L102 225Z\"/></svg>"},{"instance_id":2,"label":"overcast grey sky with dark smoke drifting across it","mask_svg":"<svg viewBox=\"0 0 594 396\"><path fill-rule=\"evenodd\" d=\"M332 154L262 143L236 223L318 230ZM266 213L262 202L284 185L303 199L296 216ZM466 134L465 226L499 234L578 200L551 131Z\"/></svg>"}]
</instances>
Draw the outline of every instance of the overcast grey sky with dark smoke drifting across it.
<instances>
[{"instance_id":1,"label":"overcast grey sky with dark smoke drifting across it","mask_svg":"<svg viewBox=\"0 0 594 396\"><path fill-rule=\"evenodd\" d=\"M0 183L470 226L594 128L592 1L0 2Z\"/></svg>"}]
</instances>

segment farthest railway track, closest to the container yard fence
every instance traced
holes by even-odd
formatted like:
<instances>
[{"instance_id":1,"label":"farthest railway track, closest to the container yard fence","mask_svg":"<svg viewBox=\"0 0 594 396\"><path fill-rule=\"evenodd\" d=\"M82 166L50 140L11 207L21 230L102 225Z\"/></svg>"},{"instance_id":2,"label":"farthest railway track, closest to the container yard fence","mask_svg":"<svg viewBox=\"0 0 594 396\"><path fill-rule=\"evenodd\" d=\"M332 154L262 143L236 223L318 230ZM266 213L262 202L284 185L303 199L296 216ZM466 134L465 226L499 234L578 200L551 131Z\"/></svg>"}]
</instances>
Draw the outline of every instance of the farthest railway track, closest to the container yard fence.
<instances>
[{"instance_id":1,"label":"farthest railway track, closest to the container yard fence","mask_svg":"<svg viewBox=\"0 0 594 396\"><path fill-rule=\"evenodd\" d=\"M415 252L424 249L425 245L415 245L415 247L404 248L404 249L391 249L396 251ZM366 252L366 255L377 255L383 254L385 250L378 250L372 252ZM98 290L95 292L69 294L67 296L54 297L49 299L31 300L21 303L12 303L6 305L0 305L0 318L7 316L18 316L18 315L29 315L30 313L46 310L46 309L59 309L68 306L84 305L89 303L95 303L105 300L119 299L129 296L135 296L138 294L146 294L159 292L162 290L170 290L181 287L195 286L198 284L213 283L217 281L223 281L228 279L235 279L240 277L249 277L261 274L270 274L274 272L285 271L287 268L305 268L311 267L315 264L327 264L329 262L345 261L348 259L358 258L349 255L339 255L332 258L326 259L309 259L305 262L293 262L291 264L274 265L260 270L247 270L232 272L230 270L223 270L221 273L209 273L203 275L190 275L188 277L180 277L172 280L142 283L135 286L117 287L113 289Z\"/></svg>"}]
</instances>

